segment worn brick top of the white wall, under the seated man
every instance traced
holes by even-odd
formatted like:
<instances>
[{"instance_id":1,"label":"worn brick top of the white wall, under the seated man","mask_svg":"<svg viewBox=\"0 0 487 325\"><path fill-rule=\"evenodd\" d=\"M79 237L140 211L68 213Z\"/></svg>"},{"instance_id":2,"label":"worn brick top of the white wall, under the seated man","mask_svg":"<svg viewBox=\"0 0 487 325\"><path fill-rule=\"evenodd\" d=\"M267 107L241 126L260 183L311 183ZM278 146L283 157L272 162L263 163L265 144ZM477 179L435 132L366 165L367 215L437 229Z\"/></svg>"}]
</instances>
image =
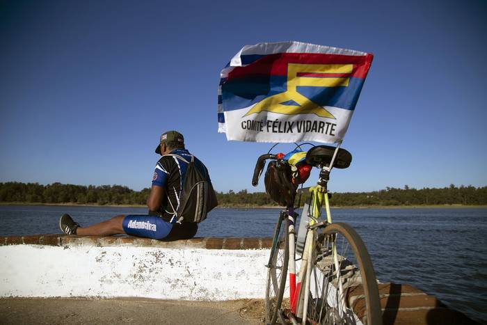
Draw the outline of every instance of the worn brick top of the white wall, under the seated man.
<instances>
[{"instance_id":1,"label":"worn brick top of the white wall, under the seated man","mask_svg":"<svg viewBox=\"0 0 487 325\"><path fill-rule=\"evenodd\" d=\"M162 248L205 248L205 249L264 249L271 248L271 238L223 238L207 237L177 241L160 241L155 239L116 236L67 236L67 235L33 235L0 237L0 246L7 245L47 245L47 246L135 246Z\"/></svg>"}]
</instances>

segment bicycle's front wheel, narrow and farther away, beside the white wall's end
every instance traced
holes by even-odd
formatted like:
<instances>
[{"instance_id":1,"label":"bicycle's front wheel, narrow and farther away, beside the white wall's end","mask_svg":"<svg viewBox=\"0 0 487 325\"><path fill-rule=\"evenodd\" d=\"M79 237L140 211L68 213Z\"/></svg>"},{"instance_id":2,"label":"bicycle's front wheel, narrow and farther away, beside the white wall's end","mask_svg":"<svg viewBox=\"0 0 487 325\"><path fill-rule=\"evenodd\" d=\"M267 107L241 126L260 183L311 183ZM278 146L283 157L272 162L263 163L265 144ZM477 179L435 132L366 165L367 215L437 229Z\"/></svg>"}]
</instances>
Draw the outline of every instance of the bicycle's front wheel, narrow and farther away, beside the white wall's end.
<instances>
[{"instance_id":1,"label":"bicycle's front wheel, narrow and farther away, beside the white wall's end","mask_svg":"<svg viewBox=\"0 0 487 325\"><path fill-rule=\"evenodd\" d=\"M287 238L289 233L289 219L287 213L281 213L276 224L273 236L271 256L267 265L266 285L266 324L275 324L278 310L282 303L287 276L287 264L289 262L289 245Z\"/></svg>"}]
</instances>

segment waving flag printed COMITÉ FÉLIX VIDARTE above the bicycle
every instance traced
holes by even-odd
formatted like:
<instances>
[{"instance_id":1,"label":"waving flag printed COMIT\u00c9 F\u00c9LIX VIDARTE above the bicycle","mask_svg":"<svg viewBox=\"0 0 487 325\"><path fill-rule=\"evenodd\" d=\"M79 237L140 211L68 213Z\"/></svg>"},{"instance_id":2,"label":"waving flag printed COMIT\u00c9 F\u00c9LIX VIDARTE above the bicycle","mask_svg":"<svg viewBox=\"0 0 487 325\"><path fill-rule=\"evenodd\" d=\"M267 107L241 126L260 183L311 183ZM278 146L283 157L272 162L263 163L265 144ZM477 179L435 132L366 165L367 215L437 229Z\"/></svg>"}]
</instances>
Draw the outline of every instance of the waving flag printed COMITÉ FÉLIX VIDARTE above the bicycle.
<instances>
[{"instance_id":1,"label":"waving flag printed COMIT\u00c9 F\u00c9LIX VIDARTE above the bicycle","mask_svg":"<svg viewBox=\"0 0 487 325\"><path fill-rule=\"evenodd\" d=\"M221 71L218 132L234 141L340 143L372 58L303 42L246 45Z\"/></svg>"}]
</instances>

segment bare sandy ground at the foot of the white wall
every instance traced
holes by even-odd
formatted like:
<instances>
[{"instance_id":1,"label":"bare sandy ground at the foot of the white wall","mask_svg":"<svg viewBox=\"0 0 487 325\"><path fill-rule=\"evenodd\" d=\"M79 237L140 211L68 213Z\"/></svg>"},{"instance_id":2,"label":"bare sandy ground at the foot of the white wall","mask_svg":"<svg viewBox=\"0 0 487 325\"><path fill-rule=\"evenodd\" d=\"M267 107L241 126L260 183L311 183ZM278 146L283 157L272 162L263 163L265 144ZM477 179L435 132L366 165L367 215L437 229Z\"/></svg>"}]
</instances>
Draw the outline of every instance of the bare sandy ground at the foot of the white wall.
<instances>
[{"instance_id":1,"label":"bare sandy ground at the foot of the white wall","mask_svg":"<svg viewBox=\"0 0 487 325\"><path fill-rule=\"evenodd\" d=\"M0 324L262 324L263 301L0 299Z\"/></svg>"}]
</instances>

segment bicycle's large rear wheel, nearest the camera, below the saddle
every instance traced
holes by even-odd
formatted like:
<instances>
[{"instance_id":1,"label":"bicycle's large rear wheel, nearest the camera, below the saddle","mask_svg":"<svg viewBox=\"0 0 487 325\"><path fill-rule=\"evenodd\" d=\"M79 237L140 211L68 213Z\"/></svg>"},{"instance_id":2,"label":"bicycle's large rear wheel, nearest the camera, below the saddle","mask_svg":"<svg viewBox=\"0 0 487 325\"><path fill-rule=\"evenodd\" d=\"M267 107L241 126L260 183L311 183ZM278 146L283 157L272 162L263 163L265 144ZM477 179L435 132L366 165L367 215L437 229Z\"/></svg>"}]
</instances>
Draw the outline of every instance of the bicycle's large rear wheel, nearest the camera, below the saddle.
<instances>
[{"instance_id":1,"label":"bicycle's large rear wheel, nearest the camera, below the saddle","mask_svg":"<svg viewBox=\"0 0 487 325\"><path fill-rule=\"evenodd\" d=\"M308 301L312 324L382 324L374 267L346 223L332 223L317 236Z\"/></svg>"}]
</instances>

